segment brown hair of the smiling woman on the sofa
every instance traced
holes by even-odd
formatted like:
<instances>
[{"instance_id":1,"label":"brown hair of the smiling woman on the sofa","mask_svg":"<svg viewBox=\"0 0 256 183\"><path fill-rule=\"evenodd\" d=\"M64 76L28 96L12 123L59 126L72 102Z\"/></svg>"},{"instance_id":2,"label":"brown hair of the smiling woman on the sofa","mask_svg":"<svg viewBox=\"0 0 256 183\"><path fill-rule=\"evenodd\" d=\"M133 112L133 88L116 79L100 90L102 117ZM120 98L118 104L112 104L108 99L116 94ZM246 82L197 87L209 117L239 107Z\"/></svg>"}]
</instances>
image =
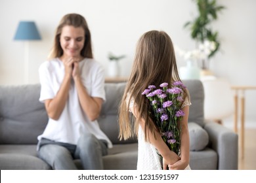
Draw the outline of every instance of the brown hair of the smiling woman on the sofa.
<instances>
[{"instance_id":1,"label":"brown hair of the smiling woman on the sofa","mask_svg":"<svg viewBox=\"0 0 256 183\"><path fill-rule=\"evenodd\" d=\"M85 44L83 49L81 50L81 56L83 58L93 58L93 50L91 46L91 33L87 22L83 16L80 14L66 14L60 20L58 27L56 28L56 33L53 42L53 49L51 50L51 54L49 55L49 59L59 58L63 55L63 50L60 46L60 35L62 33L62 28L66 25L72 25L74 27L83 27L85 30Z\"/></svg>"}]
</instances>

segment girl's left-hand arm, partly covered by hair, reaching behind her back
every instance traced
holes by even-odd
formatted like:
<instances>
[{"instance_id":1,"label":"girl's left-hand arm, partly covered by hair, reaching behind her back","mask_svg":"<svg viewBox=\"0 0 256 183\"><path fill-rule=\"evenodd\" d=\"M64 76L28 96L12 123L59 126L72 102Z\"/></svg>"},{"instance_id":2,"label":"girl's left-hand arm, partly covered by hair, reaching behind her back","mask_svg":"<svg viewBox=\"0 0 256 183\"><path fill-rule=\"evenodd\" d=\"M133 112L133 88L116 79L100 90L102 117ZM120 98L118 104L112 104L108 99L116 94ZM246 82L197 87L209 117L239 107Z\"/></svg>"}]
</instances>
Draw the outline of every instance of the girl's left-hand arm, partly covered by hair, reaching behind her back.
<instances>
[{"instance_id":1,"label":"girl's left-hand arm, partly covered by hair, reaching behind her back","mask_svg":"<svg viewBox=\"0 0 256 183\"><path fill-rule=\"evenodd\" d=\"M133 112L135 117L137 116L136 106L131 108L131 112ZM142 127L142 130L144 131L145 120L141 119L139 121L139 125ZM147 130L147 133L148 133L148 141L158 150L158 152L163 157L164 170L167 169L168 164L174 164L180 159L175 152L169 150L168 146L165 144L163 139L161 139L161 135L159 133L156 133L156 138L154 137L154 135L150 130Z\"/></svg>"}]
</instances>

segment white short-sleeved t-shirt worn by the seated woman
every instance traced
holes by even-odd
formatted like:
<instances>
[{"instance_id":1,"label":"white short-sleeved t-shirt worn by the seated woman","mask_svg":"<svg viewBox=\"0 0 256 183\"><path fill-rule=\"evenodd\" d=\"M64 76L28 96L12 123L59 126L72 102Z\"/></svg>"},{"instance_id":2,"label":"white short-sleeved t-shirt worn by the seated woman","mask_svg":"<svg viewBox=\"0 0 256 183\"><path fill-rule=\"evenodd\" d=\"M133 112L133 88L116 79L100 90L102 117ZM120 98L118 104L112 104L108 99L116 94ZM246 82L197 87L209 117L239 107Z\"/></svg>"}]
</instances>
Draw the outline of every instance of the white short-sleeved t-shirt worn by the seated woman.
<instances>
[{"instance_id":1,"label":"white short-sleeved t-shirt worn by the seated woman","mask_svg":"<svg viewBox=\"0 0 256 183\"><path fill-rule=\"evenodd\" d=\"M91 97L100 97L104 101L104 69L94 59L85 58L79 61L79 72L83 85ZM64 78L64 64L58 58L43 62L39 67L39 78L41 83L41 93L39 101L53 99L58 92ZM58 120L49 118L49 122L42 137L52 141L77 144L79 137L86 131L95 135L97 139L108 142L108 148L112 148L112 142L100 129L98 122L91 122L83 112L77 95L77 90L72 80L68 93L68 100Z\"/></svg>"}]
</instances>

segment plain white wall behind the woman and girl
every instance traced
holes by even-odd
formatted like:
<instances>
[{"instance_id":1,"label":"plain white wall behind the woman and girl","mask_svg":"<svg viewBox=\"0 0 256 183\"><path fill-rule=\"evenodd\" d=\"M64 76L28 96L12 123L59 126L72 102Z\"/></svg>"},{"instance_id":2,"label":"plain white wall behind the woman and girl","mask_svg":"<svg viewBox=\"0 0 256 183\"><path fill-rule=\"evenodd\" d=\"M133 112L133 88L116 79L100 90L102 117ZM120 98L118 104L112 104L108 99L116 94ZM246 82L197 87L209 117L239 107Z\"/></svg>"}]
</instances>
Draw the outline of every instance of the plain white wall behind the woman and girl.
<instances>
[{"instance_id":1,"label":"plain white wall behind the woman and girl","mask_svg":"<svg viewBox=\"0 0 256 183\"><path fill-rule=\"evenodd\" d=\"M213 24L213 29L219 31L222 52L211 60L211 70L232 84L256 86L256 1L218 2L226 7ZM120 61L122 76L129 75L136 42L145 31L166 31L174 44L187 50L195 45L189 31L183 28L197 14L193 0L1 0L0 84L24 83L24 44L13 41L18 22L35 21L42 36L41 41L30 42L29 82L37 83L37 70L51 50L56 25L70 12L87 19L95 58L106 69L109 51L127 56ZM185 64L179 56L177 60L179 66ZM246 92L247 119L256 117L255 94L256 91Z\"/></svg>"}]
</instances>

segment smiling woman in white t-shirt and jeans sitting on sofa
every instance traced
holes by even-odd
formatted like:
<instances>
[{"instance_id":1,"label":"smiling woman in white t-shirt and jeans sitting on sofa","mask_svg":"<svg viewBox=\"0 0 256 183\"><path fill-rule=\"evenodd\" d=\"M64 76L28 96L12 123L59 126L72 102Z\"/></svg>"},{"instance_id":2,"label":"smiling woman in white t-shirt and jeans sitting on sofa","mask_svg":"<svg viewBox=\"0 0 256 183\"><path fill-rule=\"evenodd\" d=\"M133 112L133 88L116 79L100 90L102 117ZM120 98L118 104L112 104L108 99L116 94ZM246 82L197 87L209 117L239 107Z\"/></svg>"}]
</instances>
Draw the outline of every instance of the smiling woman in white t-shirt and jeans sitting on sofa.
<instances>
[{"instance_id":1,"label":"smiling woman in white t-shirt and jeans sitting on sofa","mask_svg":"<svg viewBox=\"0 0 256 183\"><path fill-rule=\"evenodd\" d=\"M112 143L96 118L105 100L104 70L93 59L85 18L66 14L56 29L49 61L39 67L41 94L49 122L39 135L38 154L53 169L103 169Z\"/></svg>"}]
</instances>

